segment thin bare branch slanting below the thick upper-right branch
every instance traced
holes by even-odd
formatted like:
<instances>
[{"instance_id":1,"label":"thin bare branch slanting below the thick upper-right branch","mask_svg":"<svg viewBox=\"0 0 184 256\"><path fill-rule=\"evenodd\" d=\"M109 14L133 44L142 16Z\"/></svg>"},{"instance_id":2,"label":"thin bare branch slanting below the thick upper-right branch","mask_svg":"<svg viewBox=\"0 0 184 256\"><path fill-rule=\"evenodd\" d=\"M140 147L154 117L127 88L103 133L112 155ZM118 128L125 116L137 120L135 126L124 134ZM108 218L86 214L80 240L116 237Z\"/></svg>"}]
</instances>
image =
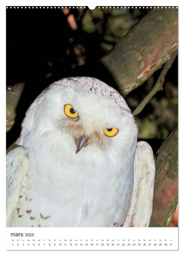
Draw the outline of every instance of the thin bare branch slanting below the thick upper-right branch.
<instances>
[{"instance_id":1,"label":"thin bare branch slanting below the thick upper-right branch","mask_svg":"<svg viewBox=\"0 0 184 256\"><path fill-rule=\"evenodd\" d=\"M143 99L143 101L134 110L134 112L133 112L134 115L139 114L143 110L143 108L146 106L146 104L150 101L150 99L157 93L157 91L162 90L165 76L166 76L169 68L172 66L174 60L176 59L176 56L177 56L177 50L175 52L173 52L170 59L165 63L164 68L162 69L162 72L160 73L160 76L159 76L156 84L153 86L152 90L147 94L147 96Z\"/></svg>"}]
</instances>

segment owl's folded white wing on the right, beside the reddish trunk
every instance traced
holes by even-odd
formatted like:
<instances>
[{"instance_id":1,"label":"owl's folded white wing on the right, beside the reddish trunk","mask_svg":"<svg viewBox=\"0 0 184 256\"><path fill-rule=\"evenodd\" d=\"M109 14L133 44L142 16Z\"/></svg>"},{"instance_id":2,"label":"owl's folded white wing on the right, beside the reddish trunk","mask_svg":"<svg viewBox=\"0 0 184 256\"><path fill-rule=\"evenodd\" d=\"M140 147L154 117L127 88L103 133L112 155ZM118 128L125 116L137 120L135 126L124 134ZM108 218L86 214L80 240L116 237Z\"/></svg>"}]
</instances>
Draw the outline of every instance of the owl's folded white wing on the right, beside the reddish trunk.
<instances>
[{"instance_id":1,"label":"owl's folded white wing on the right, beside the reddish trunk","mask_svg":"<svg viewBox=\"0 0 184 256\"><path fill-rule=\"evenodd\" d=\"M147 142L138 142L134 161L134 190L123 227L148 227L152 215L155 164Z\"/></svg>"}]
</instances>

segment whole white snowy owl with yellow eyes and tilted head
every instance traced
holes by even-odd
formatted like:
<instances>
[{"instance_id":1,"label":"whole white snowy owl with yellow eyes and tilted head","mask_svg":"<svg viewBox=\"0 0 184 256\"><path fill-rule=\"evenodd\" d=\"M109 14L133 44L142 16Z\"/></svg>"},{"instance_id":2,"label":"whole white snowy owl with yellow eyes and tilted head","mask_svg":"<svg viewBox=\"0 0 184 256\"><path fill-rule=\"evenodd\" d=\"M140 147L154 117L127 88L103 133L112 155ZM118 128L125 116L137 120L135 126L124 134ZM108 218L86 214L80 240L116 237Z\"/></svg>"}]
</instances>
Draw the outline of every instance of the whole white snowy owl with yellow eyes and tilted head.
<instances>
[{"instance_id":1,"label":"whole white snowy owl with yellow eyes and tilted head","mask_svg":"<svg viewBox=\"0 0 184 256\"><path fill-rule=\"evenodd\" d=\"M7 226L148 226L154 172L124 98L96 78L61 79L8 149Z\"/></svg>"}]
</instances>

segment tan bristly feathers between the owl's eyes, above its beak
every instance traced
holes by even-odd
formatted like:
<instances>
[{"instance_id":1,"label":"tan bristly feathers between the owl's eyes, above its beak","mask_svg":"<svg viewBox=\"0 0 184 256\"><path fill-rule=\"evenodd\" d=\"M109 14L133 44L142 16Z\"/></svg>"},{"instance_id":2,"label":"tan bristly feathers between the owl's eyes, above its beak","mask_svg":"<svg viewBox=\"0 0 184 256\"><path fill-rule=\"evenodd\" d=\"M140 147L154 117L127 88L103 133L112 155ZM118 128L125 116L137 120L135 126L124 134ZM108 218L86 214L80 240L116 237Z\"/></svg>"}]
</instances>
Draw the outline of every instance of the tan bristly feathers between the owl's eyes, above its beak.
<instances>
[{"instance_id":1,"label":"tan bristly feathers between the owl's eyes, above its beak","mask_svg":"<svg viewBox=\"0 0 184 256\"><path fill-rule=\"evenodd\" d=\"M72 136L74 140L85 135L88 137L88 145L99 147L101 150L106 150L106 141L103 135L99 134L95 130L88 131L82 124L68 122L62 123L60 124L60 130L67 135Z\"/></svg>"}]
</instances>

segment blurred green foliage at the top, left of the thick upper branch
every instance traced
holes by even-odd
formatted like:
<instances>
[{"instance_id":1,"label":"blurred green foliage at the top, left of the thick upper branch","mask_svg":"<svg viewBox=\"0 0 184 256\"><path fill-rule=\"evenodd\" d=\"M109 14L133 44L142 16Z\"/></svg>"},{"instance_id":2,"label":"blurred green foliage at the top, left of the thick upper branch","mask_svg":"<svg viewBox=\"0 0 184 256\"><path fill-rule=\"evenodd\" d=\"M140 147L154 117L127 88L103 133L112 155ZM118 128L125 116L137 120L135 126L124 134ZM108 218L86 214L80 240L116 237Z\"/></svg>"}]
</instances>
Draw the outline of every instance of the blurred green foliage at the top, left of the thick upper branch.
<instances>
[{"instance_id":1,"label":"blurred green foliage at the top, left of the thick upper branch","mask_svg":"<svg viewBox=\"0 0 184 256\"><path fill-rule=\"evenodd\" d=\"M104 21L106 21L105 24ZM82 24L83 30L87 33L97 32L102 35L103 41L100 46L107 52L128 33L136 21L137 19L134 19L126 9L96 8L86 11Z\"/></svg>"}]
</instances>

